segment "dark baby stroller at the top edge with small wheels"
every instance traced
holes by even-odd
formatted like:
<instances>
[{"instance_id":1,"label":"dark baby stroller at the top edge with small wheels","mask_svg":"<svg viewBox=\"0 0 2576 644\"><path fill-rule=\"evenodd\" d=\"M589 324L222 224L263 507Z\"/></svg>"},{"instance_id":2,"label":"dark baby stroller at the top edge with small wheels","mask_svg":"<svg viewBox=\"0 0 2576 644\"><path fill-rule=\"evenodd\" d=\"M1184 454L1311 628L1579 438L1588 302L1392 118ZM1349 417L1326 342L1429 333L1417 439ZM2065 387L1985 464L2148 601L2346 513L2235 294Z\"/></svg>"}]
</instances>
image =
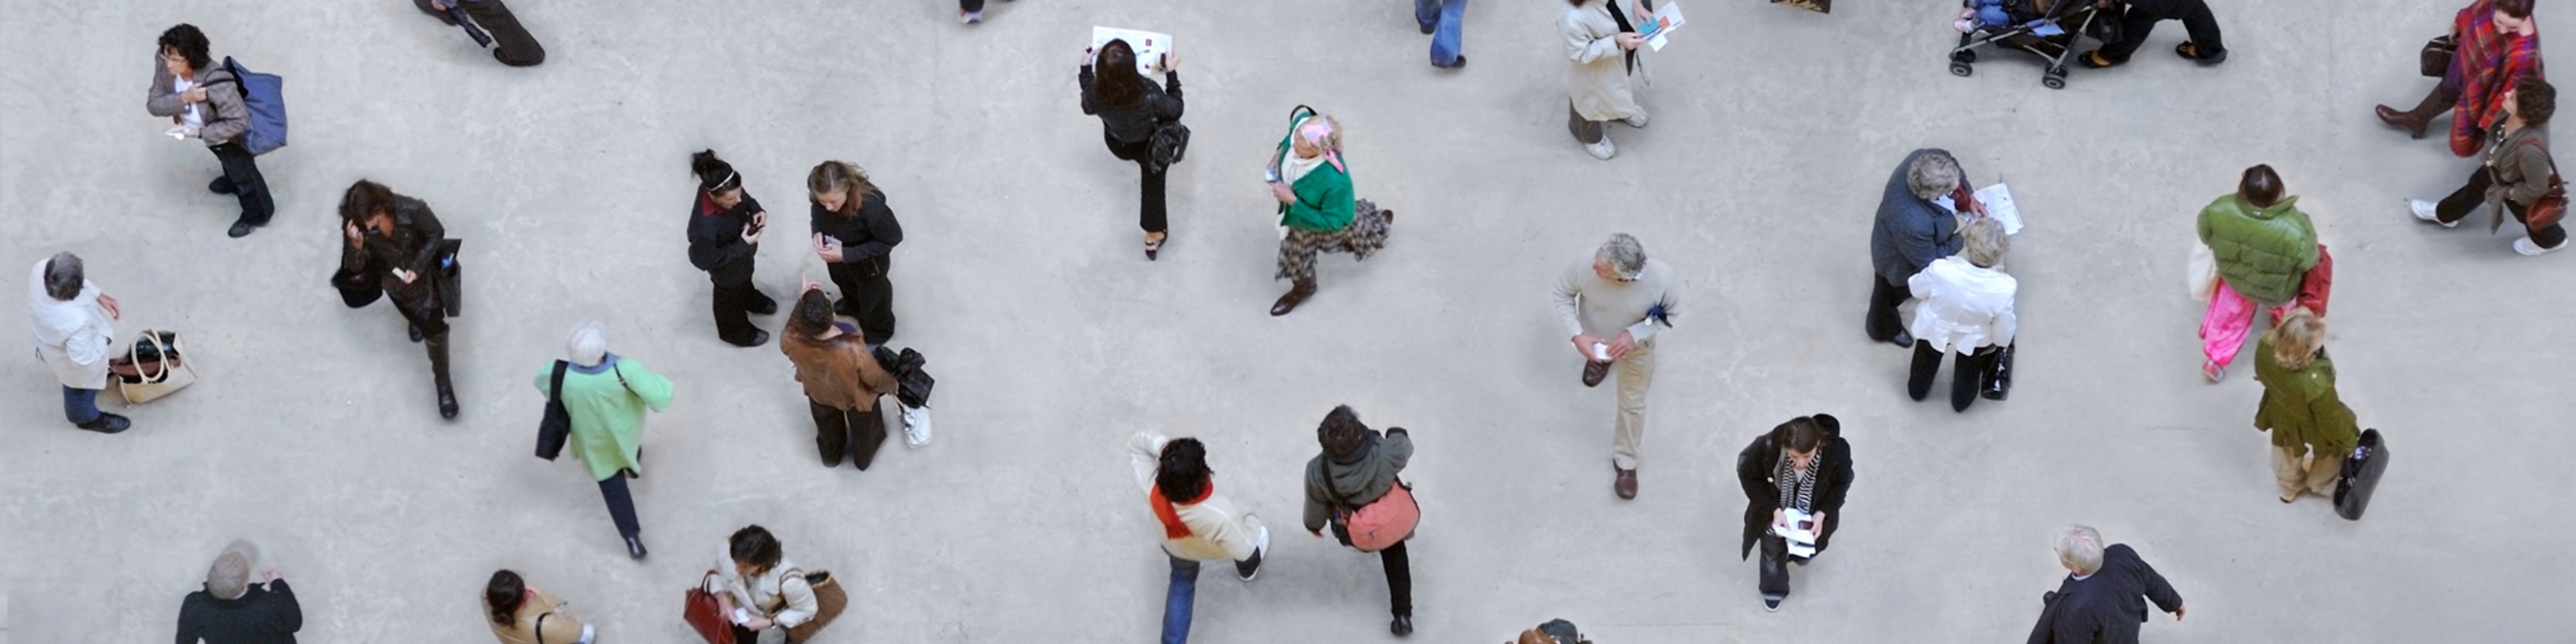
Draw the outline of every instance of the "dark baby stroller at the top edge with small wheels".
<instances>
[{"instance_id":1,"label":"dark baby stroller at the top edge with small wheels","mask_svg":"<svg viewBox=\"0 0 2576 644\"><path fill-rule=\"evenodd\" d=\"M2066 59L2076 52L2076 36L2107 36L2117 21L2107 21L2094 0L1965 0L1958 46L1950 49L1950 75L1976 72L1976 49L2022 49L2048 62L2040 85L2066 88ZM1994 21L2002 18L2002 21Z\"/></svg>"}]
</instances>

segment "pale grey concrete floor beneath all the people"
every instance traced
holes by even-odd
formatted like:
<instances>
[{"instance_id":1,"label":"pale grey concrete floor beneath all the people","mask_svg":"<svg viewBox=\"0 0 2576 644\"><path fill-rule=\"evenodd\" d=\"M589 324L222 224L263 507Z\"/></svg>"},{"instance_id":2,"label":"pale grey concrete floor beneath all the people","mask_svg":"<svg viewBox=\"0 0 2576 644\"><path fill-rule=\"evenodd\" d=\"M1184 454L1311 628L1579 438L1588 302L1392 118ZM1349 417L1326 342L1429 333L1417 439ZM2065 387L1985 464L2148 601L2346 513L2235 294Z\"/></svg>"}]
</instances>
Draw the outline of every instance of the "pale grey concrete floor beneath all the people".
<instances>
[{"instance_id":1,"label":"pale grey concrete floor beneath all the people","mask_svg":"<svg viewBox=\"0 0 2576 644\"><path fill-rule=\"evenodd\" d=\"M1296 536L1311 428L1332 404L1414 430L1425 526L1417 641L1497 641L1571 618L1597 641L2012 641L2056 587L2058 526L2138 546L2187 598L2154 641L2545 641L2576 626L2576 474L2555 456L2576 379L2553 289L2576 258L2411 222L2470 162L2370 118L2411 106L2450 3L2218 3L2233 59L2164 52L2076 70L1989 54L1950 77L1953 3L1834 15L1685 0L1646 62L1654 126L1597 162L1564 134L1556 3L1476 3L1463 72L1425 64L1404 3L523 0L549 62L507 70L407 3L15 0L0 21L0 268L54 250L124 299L121 335L185 332L204 384L62 422L33 358L0 361L0 577L18 641L155 641L232 538L294 580L307 641L479 641L477 590L513 567L603 641L688 641L680 592L744 523L835 569L827 641L1146 641L1164 559L1123 438L1211 440L1221 489L1278 528L1255 585L1203 577L1198 641L1386 639L1373 556ZM1218 10L1224 5L1224 10ZM2566 13L2543 31L2566 33ZM263 157L276 224L224 240L198 144L144 116L152 39L198 23L281 72L294 147ZM1195 149L1175 242L1144 263L1136 173L1077 111L1087 26L1177 33ZM1360 193L1401 211L1368 260L1327 255L1293 317L1267 304L1257 183L1283 113L1350 131ZM714 147L783 222L783 296L817 160L855 160L904 219L896 345L940 376L938 443L873 471L814 466L775 348L714 340L683 258L685 157ZM1906 353L1860 332L1888 170L1947 147L2009 180L2030 229L2020 386L1965 415L1901 394ZM2272 162L2334 247L2342 394L2385 428L2367 520L2272 500L2249 363L2195 374L2192 214ZM386 307L325 286L332 206L376 178L466 240L464 417ZM2483 219L2478 219L2483 222ZM1659 350L1643 495L1610 495L1613 392L1582 389L1546 286L1602 234L1682 273ZM18 273L5 273L18 276ZM636 484L629 562L572 464L528 459L528 381L580 319L677 381ZM0 314L0 337L26 337ZM778 317L760 319L773 327ZM2251 348L2249 348L2251 353ZM1947 379L1947 376L1945 376ZM1834 412L1860 479L1834 551L1762 613L1736 556L1734 453ZM2561 417L2561 420L2553 420Z\"/></svg>"}]
</instances>

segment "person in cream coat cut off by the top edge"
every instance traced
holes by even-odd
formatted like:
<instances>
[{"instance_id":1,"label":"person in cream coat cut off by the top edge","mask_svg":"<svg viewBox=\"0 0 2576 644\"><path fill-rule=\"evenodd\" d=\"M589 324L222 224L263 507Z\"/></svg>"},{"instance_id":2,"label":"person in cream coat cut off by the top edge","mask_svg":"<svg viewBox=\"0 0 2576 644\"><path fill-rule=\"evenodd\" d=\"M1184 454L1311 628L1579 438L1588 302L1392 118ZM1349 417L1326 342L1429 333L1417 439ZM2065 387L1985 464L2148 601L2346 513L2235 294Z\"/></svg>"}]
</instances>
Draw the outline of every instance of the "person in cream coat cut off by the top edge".
<instances>
[{"instance_id":1,"label":"person in cream coat cut off by the top edge","mask_svg":"<svg viewBox=\"0 0 2576 644\"><path fill-rule=\"evenodd\" d=\"M1646 108L1636 106L1633 88L1646 80L1646 70L1636 62L1636 46L1646 44L1646 36L1636 33L1636 23L1628 21L1628 10L1646 15L1646 5L1620 10L1618 0L1566 3L1566 13L1556 18L1556 33L1566 39L1566 59L1574 62L1566 70L1566 129L1574 131L1574 142L1584 144L1584 152L1610 160L1618 155L1618 144L1610 142L1610 121L1646 126Z\"/></svg>"}]
</instances>

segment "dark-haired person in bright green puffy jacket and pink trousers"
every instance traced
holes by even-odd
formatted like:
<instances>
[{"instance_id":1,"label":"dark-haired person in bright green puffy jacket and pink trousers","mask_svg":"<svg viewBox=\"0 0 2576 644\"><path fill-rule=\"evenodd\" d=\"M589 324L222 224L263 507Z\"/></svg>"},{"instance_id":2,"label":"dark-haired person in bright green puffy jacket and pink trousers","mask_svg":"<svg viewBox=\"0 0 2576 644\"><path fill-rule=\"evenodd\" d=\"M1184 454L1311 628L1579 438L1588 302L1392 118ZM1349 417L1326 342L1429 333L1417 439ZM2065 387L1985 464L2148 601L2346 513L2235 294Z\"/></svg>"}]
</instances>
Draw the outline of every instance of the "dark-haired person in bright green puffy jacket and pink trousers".
<instances>
[{"instance_id":1,"label":"dark-haired person in bright green puffy jacket and pink trousers","mask_svg":"<svg viewBox=\"0 0 2576 644\"><path fill-rule=\"evenodd\" d=\"M2200 353L2208 358L2200 376L2223 381L2254 330L2254 309L2277 312L2298 299L2318 258L2316 224L2298 211L2298 196L2285 193L2272 165L2254 165L2236 193L2200 209L2200 242L2218 260L2218 289L2200 319Z\"/></svg>"}]
</instances>

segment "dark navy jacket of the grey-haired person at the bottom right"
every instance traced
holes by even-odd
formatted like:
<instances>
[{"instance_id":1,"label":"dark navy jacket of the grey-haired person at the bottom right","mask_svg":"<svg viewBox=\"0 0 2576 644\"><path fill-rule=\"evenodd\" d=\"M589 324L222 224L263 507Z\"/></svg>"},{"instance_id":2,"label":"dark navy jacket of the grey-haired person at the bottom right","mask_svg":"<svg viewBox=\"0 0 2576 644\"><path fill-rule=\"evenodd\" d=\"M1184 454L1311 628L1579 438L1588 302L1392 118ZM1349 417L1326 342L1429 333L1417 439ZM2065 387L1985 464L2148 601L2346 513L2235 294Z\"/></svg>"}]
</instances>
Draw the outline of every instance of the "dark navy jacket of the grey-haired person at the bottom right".
<instances>
[{"instance_id":1,"label":"dark navy jacket of the grey-haired person at the bottom right","mask_svg":"<svg viewBox=\"0 0 2576 644\"><path fill-rule=\"evenodd\" d=\"M2102 549L2102 569L2081 582L2069 574L2058 585L2040 623L2030 629L2030 644L2138 644L2148 600L2164 613L2182 608L2182 595L2156 567L2125 544L2112 544Z\"/></svg>"}]
</instances>

